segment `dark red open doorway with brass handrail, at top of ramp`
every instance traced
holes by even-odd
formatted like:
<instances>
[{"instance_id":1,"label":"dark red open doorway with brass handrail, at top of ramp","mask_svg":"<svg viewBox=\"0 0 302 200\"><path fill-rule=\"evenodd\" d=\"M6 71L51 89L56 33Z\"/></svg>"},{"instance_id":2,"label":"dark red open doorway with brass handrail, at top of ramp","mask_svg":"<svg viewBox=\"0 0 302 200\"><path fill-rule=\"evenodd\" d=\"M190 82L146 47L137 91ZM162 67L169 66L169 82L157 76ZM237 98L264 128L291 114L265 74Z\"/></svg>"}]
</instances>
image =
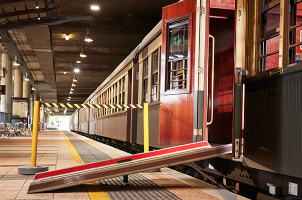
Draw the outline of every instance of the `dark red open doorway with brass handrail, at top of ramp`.
<instances>
[{"instance_id":1,"label":"dark red open doorway with brass handrail, at top of ramp","mask_svg":"<svg viewBox=\"0 0 302 200\"><path fill-rule=\"evenodd\" d=\"M210 1L212 2L212 1ZM232 143L234 109L234 4L210 3L209 60L205 70L203 140L212 145Z\"/></svg>"}]
</instances>

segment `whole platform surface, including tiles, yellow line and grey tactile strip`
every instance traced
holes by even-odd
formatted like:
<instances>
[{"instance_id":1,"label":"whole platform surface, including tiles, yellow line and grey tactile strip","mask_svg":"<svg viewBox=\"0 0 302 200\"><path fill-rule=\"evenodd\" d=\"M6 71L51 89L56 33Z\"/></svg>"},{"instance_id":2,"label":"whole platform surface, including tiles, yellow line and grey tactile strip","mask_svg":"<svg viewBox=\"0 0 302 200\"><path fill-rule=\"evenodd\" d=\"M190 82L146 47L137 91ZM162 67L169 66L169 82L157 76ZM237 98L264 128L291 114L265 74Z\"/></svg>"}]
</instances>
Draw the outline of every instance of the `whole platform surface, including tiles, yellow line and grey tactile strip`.
<instances>
[{"instance_id":1,"label":"whole platform surface, including tiles, yellow line and grey tactile strip","mask_svg":"<svg viewBox=\"0 0 302 200\"><path fill-rule=\"evenodd\" d=\"M40 193L27 193L34 175L18 173L31 163L31 136L0 138L1 199L247 199L170 168L139 172ZM37 165L49 170L108 160L129 153L70 131L38 136Z\"/></svg>"}]
</instances>

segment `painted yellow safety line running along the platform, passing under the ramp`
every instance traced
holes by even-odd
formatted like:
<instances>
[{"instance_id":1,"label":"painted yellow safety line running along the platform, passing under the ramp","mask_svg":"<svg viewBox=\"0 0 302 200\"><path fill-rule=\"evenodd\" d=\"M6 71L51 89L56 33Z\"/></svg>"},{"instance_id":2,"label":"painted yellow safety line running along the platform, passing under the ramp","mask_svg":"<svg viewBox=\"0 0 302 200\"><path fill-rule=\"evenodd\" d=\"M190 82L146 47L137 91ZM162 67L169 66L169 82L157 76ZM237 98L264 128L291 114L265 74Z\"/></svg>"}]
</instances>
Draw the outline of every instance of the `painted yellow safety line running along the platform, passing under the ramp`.
<instances>
[{"instance_id":1,"label":"painted yellow safety line running along the platform, passing under the ramp","mask_svg":"<svg viewBox=\"0 0 302 200\"><path fill-rule=\"evenodd\" d=\"M71 155L73 157L73 160L76 165L79 164L85 164L82 160L81 156L79 155L76 148L72 145L72 143L69 141L66 134L63 132L65 140L67 142L67 145L69 147L69 150L71 152ZM106 192L100 187L100 185L95 182L85 183L86 189L88 191L89 197L91 200L107 200L110 199L109 196L106 194Z\"/></svg>"}]
</instances>

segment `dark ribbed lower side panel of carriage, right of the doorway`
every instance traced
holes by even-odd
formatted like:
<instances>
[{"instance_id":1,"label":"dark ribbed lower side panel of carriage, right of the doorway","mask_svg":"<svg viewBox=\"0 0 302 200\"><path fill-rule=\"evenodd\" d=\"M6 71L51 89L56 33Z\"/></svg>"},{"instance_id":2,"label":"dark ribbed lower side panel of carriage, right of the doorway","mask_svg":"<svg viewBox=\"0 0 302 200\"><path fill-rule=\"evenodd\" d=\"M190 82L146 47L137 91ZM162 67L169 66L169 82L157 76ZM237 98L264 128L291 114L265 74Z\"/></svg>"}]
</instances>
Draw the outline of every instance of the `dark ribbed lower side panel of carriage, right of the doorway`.
<instances>
[{"instance_id":1,"label":"dark ribbed lower side panel of carriage, right of the doorway","mask_svg":"<svg viewBox=\"0 0 302 200\"><path fill-rule=\"evenodd\" d=\"M247 162L302 172L302 72L246 84Z\"/></svg>"}]
</instances>

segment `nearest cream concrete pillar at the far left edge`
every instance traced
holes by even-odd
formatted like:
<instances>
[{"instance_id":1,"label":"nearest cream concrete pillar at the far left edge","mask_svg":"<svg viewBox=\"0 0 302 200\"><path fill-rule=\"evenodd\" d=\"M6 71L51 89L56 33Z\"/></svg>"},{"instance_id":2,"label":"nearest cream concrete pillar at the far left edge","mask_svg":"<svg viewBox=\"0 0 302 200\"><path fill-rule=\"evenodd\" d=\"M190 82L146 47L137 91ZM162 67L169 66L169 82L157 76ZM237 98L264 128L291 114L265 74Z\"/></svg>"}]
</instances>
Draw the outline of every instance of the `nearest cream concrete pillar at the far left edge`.
<instances>
[{"instance_id":1,"label":"nearest cream concrete pillar at the far left edge","mask_svg":"<svg viewBox=\"0 0 302 200\"><path fill-rule=\"evenodd\" d=\"M13 90L13 72L12 72L12 58L9 53L2 53L2 70L6 68L7 73L5 78L1 78L1 84L6 85L6 94L1 95L1 111L7 113L7 122L11 122L11 97Z\"/></svg>"}]
</instances>

